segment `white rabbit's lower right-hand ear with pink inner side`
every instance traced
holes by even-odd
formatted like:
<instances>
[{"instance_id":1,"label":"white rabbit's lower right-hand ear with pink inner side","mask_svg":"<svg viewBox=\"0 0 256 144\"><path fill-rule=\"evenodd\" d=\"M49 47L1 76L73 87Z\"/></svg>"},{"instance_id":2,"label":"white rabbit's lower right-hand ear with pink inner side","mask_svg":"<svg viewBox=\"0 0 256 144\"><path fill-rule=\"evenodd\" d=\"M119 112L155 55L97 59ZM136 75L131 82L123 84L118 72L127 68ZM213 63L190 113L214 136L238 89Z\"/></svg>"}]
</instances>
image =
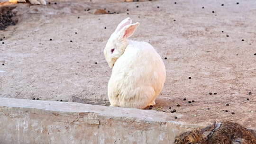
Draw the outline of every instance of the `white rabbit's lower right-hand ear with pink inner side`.
<instances>
[{"instance_id":1,"label":"white rabbit's lower right-hand ear with pink inner side","mask_svg":"<svg viewBox=\"0 0 256 144\"><path fill-rule=\"evenodd\" d=\"M120 38L123 39L123 38L128 38L132 36L138 26L139 26L139 23L137 22L135 24L130 24L123 27L120 30Z\"/></svg>"}]
</instances>

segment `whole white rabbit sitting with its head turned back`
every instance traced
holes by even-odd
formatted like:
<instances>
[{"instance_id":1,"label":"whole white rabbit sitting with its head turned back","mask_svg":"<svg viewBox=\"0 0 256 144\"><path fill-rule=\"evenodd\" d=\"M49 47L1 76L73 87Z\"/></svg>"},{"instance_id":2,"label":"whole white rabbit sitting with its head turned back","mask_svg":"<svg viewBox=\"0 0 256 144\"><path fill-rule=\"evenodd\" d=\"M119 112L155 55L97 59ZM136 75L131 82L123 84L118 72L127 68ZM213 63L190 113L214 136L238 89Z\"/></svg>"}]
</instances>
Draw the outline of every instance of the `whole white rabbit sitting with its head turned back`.
<instances>
[{"instance_id":1,"label":"whole white rabbit sitting with its head turned back","mask_svg":"<svg viewBox=\"0 0 256 144\"><path fill-rule=\"evenodd\" d=\"M130 41L139 23L124 19L110 36L104 55L112 69L108 84L110 106L146 108L165 83L165 64L154 47L146 42Z\"/></svg>"}]
</instances>

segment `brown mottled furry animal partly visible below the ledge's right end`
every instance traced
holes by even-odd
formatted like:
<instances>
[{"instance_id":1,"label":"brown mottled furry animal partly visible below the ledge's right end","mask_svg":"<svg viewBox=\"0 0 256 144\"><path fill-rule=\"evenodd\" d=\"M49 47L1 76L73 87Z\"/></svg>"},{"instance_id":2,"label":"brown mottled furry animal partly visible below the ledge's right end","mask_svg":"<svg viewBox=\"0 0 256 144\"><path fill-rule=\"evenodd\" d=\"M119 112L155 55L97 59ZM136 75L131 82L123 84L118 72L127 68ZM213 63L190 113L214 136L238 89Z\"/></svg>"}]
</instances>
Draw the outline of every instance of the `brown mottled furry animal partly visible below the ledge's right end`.
<instances>
[{"instance_id":1,"label":"brown mottled furry animal partly visible below the ledge's right end","mask_svg":"<svg viewBox=\"0 0 256 144\"><path fill-rule=\"evenodd\" d=\"M256 137L247 128L226 121L178 135L174 144L256 144Z\"/></svg>"}]
</instances>

